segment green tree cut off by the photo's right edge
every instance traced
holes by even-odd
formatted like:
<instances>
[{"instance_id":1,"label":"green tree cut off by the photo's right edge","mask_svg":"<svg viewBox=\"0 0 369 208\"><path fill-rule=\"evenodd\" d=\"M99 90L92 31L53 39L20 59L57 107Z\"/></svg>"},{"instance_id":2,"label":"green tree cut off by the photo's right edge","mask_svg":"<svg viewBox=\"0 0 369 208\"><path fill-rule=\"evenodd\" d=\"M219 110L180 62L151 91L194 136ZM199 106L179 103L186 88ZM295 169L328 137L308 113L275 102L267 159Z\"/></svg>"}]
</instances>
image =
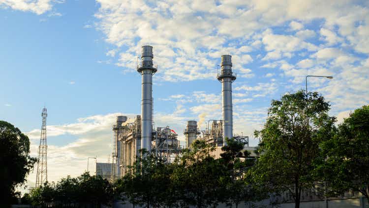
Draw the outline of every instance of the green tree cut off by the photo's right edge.
<instances>
[{"instance_id":1,"label":"green tree cut off by the photo's right edge","mask_svg":"<svg viewBox=\"0 0 369 208\"><path fill-rule=\"evenodd\" d=\"M337 134L321 144L327 158L317 166L328 195L358 191L369 200L369 106L356 109L338 125Z\"/></svg>"}]
</instances>

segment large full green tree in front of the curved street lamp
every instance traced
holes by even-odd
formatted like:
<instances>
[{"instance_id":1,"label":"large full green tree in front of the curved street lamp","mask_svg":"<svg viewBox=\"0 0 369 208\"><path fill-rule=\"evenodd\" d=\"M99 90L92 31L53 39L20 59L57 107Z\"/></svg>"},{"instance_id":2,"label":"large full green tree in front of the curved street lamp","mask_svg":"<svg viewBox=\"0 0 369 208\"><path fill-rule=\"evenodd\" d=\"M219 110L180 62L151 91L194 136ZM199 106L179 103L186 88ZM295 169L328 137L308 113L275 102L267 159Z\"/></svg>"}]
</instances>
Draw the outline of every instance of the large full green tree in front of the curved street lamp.
<instances>
[{"instance_id":1,"label":"large full green tree in front of the curved street lamp","mask_svg":"<svg viewBox=\"0 0 369 208\"><path fill-rule=\"evenodd\" d=\"M270 193L289 192L300 207L301 192L314 186L314 162L321 159L319 144L335 133L335 118L317 92L286 94L273 100L261 138L260 157L252 168L255 184Z\"/></svg>"}]
</instances>

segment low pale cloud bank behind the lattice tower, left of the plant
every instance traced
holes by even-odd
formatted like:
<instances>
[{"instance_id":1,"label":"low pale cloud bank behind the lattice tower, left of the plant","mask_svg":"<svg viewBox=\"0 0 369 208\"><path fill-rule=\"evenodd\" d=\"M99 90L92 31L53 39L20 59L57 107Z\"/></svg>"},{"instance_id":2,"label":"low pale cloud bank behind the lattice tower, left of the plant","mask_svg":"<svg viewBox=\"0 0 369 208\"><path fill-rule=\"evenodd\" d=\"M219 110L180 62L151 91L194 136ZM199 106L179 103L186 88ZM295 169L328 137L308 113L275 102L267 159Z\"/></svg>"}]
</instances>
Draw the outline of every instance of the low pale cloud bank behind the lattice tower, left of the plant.
<instances>
[{"instance_id":1,"label":"low pale cloud bank behind the lattice tower, left of the plant","mask_svg":"<svg viewBox=\"0 0 369 208\"><path fill-rule=\"evenodd\" d=\"M80 118L76 123L47 126L48 180L59 181L67 175L76 177L82 174L86 170L88 156L97 156L98 162L106 162L107 156L112 152L111 127L118 115L122 114L94 115ZM127 116L133 117L132 114ZM40 130L31 130L26 135L31 139L31 156L37 156ZM59 135L73 135L77 138L63 145L50 145ZM93 165L90 168L90 171L93 170ZM28 177L29 185L35 183L35 172L36 170L33 170Z\"/></svg>"}]
</instances>

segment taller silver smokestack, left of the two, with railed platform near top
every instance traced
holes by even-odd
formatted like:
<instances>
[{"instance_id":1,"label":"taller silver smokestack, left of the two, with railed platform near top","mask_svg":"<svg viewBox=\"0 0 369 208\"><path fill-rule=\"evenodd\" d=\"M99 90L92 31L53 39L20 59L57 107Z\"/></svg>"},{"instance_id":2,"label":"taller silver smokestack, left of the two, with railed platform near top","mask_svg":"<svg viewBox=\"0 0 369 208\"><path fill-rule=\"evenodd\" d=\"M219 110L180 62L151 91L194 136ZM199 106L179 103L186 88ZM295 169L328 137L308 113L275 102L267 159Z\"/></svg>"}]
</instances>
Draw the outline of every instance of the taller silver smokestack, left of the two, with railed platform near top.
<instances>
[{"instance_id":1,"label":"taller silver smokestack, left of the two, with railed platform near top","mask_svg":"<svg viewBox=\"0 0 369 208\"><path fill-rule=\"evenodd\" d=\"M152 140L152 110L153 110L153 75L157 71L153 64L153 47L143 46L141 63L137 66L137 71L142 75L142 100L141 100L141 148L151 152Z\"/></svg>"}]
</instances>

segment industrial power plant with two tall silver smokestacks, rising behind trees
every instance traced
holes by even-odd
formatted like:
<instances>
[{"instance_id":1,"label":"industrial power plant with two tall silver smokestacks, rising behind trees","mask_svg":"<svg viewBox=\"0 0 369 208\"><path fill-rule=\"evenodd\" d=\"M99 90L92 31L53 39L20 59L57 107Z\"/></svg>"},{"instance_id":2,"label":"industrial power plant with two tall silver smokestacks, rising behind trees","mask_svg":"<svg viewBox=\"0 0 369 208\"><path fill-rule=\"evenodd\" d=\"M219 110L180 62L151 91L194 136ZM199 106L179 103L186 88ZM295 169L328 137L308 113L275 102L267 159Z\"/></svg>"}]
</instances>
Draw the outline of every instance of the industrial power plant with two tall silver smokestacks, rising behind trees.
<instances>
[{"instance_id":1,"label":"industrial power plant with two tall silver smokestacks, rising behind trees","mask_svg":"<svg viewBox=\"0 0 369 208\"><path fill-rule=\"evenodd\" d=\"M178 134L169 126L154 129L153 107L153 75L157 65L153 62L152 46L142 46L141 62L137 65L137 72L141 74L142 100L141 115L136 115L133 122L128 122L126 116L118 116L113 125L113 153L111 163L111 180L115 181L129 170L135 162L140 149L170 163L181 154L184 148L189 148L196 139L203 139L207 144L217 147L216 155L220 154L220 147L226 145L225 138L233 137L232 111L232 82L236 74L232 72L232 56L221 56L221 70L217 79L222 85L222 119L209 120L208 127L200 130L197 121L187 121L184 128L185 146L180 146ZM213 121L209 127L210 121ZM247 136L236 136L247 142ZM248 148L250 149L250 148Z\"/></svg>"}]
</instances>

